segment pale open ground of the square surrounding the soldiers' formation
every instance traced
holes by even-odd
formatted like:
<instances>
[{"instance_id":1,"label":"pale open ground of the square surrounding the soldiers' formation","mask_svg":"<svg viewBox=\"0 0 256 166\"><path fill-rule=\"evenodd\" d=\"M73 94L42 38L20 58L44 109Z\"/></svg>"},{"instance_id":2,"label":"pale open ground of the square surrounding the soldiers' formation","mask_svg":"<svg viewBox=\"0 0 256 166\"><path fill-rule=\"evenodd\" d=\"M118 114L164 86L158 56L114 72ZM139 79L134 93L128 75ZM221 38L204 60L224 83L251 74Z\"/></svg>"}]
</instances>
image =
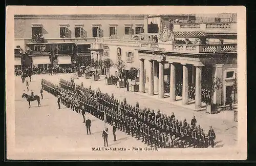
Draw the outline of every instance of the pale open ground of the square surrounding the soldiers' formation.
<instances>
[{"instance_id":1,"label":"pale open ground of the square surrounding the soldiers' formation","mask_svg":"<svg viewBox=\"0 0 256 166\"><path fill-rule=\"evenodd\" d=\"M39 94L40 79L45 78L54 83L58 83L60 78L70 80L71 74L60 75L33 75L30 88L35 95ZM115 97L123 100L126 97L127 102L135 104L139 101L141 107L149 107L154 110L160 109L166 114L174 112L178 119L186 118L191 120L193 115L196 116L198 123L205 131L208 126L213 126L217 135L216 147L232 147L237 142L237 123L232 120L232 113L224 111L219 114L210 115L202 112L194 112L183 107L172 105L171 103L156 100L145 95L133 92L125 92L125 89L118 89L115 86L104 85L104 80L92 81L91 79L75 79L77 84L83 82L84 86L92 86L92 89L98 87L102 92L114 93ZM15 79L15 142L16 148L26 148L33 151L61 151L63 149L89 150L88 147L102 147L103 140L101 137L104 123L88 114L92 120L92 135L86 134L86 127L82 123L81 114L77 114L68 108L61 107L57 109L56 98L44 92L44 99L41 100L41 107L37 108L37 102L31 102L31 108L28 102L21 98L22 93L26 90L26 85L22 84L21 79ZM110 131L112 127L109 126ZM111 133L111 132L110 132ZM113 136L109 137L110 147L146 147L144 143L136 140L134 137L117 132L117 141L113 141ZM89 150L91 151L91 149Z\"/></svg>"}]
</instances>

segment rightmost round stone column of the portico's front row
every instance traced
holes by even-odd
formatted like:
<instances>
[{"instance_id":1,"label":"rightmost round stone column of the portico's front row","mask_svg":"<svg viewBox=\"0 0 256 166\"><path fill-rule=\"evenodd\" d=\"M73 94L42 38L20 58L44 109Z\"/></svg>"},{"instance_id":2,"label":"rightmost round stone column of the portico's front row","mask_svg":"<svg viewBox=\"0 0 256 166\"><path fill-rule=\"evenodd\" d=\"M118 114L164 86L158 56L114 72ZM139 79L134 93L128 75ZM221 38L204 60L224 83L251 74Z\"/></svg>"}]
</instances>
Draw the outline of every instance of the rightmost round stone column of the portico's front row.
<instances>
[{"instance_id":1,"label":"rightmost round stone column of the portico's front row","mask_svg":"<svg viewBox=\"0 0 256 166\"><path fill-rule=\"evenodd\" d=\"M193 66L194 68L194 66ZM202 67L196 67L196 109L201 108L201 80L202 80Z\"/></svg>"}]
</instances>

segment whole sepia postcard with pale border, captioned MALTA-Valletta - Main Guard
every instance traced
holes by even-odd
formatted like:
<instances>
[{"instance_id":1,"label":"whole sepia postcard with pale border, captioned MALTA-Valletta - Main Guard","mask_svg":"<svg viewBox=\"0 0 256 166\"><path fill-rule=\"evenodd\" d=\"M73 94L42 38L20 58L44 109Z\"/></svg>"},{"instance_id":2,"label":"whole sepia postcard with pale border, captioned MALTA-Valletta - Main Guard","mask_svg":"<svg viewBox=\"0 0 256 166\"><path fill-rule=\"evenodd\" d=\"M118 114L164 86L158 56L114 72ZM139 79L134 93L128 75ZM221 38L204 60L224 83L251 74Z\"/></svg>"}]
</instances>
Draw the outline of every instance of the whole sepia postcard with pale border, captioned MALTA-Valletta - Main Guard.
<instances>
[{"instance_id":1,"label":"whole sepia postcard with pale border, captioned MALTA-Valletta - Main Guard","mask_svg":"<svg viewBox=\"0 0 256 166\"><path fill-rule=\"evenodd\" d=\"M245 160L243 6L8 6L8 160Z\"/></svg>"}]
</instances>

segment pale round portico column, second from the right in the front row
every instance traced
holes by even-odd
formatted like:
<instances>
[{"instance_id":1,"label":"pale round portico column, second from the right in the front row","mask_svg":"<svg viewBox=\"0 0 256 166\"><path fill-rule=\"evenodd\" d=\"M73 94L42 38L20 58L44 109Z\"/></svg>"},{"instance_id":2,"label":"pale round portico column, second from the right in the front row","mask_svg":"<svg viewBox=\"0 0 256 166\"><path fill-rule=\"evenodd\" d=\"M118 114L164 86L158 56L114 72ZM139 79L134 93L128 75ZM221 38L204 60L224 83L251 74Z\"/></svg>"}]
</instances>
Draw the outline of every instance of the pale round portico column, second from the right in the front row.
<instances>
[{"instance_id":1,"label":"pale round portico column, second from the right in the front row","mask_svg":"<svg viewBox=\"0 0 256 166\"><path fill-rule=\"evenodd\" d=\"M188 69L186 64L183 65L183 79L182 79L182 104L188 104Z\"/></svg>"}]
</instances>

